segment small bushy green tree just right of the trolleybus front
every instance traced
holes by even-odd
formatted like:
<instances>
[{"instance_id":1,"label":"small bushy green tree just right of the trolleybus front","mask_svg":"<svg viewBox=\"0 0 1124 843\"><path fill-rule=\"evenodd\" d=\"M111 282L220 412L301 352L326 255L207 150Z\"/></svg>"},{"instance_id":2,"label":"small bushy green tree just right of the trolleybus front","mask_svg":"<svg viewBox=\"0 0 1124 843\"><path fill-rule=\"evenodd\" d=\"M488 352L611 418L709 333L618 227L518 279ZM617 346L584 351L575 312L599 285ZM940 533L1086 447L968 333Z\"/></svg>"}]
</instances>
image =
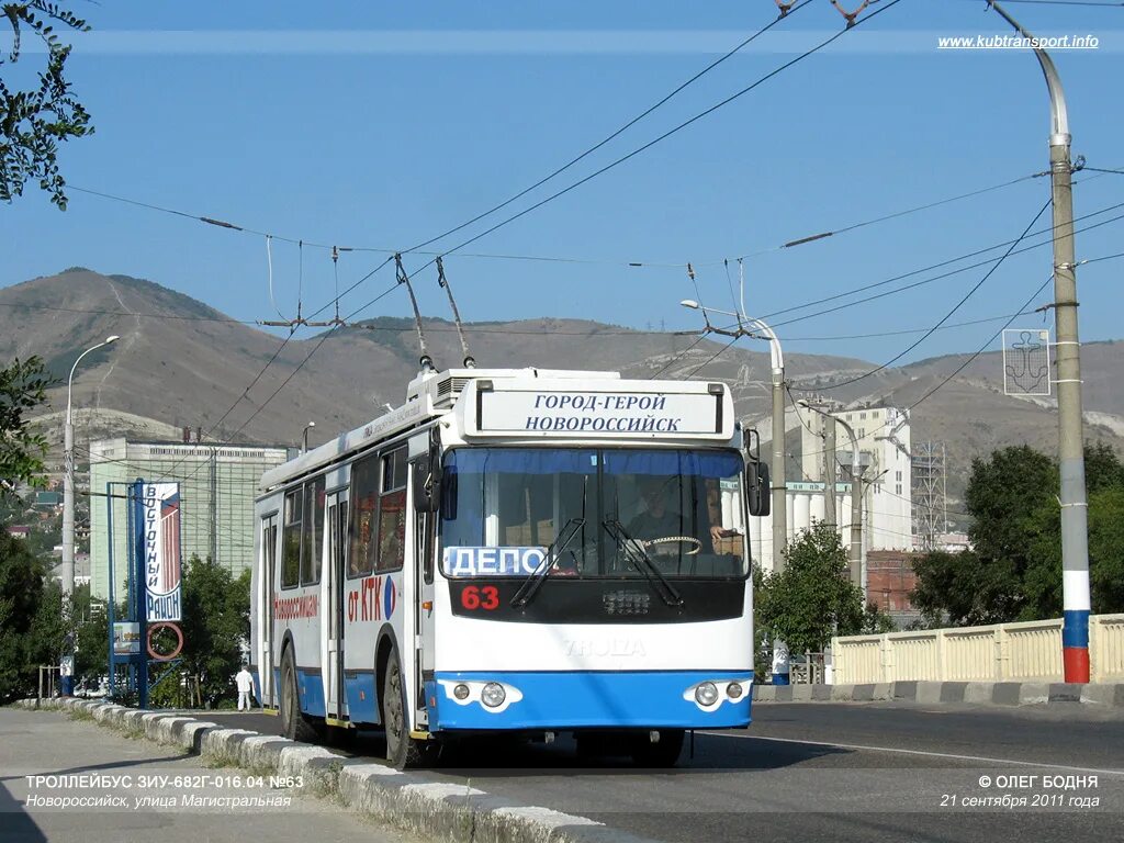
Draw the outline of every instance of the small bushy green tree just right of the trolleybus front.
<instances>
[{"instance_id":1,"label":"small bushy green tree just right of the trolleybus front","mask_svg":"<svg viewBox=\"0 0 1124 843\"><path fill-rule=\"evenodd\" d=\"M873 608L873 607L871 607ZM873 609L872 623L878 610ZM760 578L756 624L792 652L821 652L832 635L863 632L862 591L851 583L846 550L824 524L803 533L785 551L785 570Z\"/></svg>"}]
</instances>

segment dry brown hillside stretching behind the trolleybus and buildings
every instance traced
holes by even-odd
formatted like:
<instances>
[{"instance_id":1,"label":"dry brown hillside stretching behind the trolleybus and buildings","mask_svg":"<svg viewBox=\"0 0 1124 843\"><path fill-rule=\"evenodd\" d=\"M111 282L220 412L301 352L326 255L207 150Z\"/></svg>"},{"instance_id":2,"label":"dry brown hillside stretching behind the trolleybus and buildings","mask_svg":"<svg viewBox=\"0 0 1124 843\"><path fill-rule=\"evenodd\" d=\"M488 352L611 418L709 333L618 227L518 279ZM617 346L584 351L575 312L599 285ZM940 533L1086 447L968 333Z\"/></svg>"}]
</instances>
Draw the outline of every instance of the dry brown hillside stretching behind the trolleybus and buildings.
<instances>
[{"instance_id":1,"label":"dry brown hillside stretching behind the trolleybus and buildings","mask_svg":"<svg viewBox=\"0 0 1124 843\"><path fill-rule=\"evenodd\" d=\"M462 354L454 326L428 319L425 329L437 364L459 365ZM636 378L658 372L689 378L701 372L725 380L734 390L740 416L762 423L765 439L770 436L769 355L763 351L731 348L707 364L724 343L545 317L474 323L466 333L471 353L486 366L618 369ZM38 354L65 379L76 354L109 334L121 339L88 356L75 378L80 448L91 434L155 438L174 436L183 427L215 428L212 436L225 441L296 444L309 420L317 424L312 441L323 441L377 416L386 404L399 402L418 361L413 320L407 319L372 319L327 337L306 329L281 347L280 338L255 326L125 275L74 269L0 290L0 356ZM1052 401L1004 396L998 357L998 353L981 355L914 411L914 442L932 438L948 446L954 498L973 456L1005 444L1025 442L1044 451L1054 446ZM949 355L887 369L830 395L846 402L909 406L966 359ZM787 355L786 364L794 387L810 390L874 368L856 359L804 354ZM1082 364L1088 437L1124 451L1124 344L1090 344ZM43 417L56 442L62 438L64 408L65 383L51 391L51 410ZM797 424L790 415L787 438L796 450ZM61 462L57 456L56 461Z\"/></svg>"}]
</instances>

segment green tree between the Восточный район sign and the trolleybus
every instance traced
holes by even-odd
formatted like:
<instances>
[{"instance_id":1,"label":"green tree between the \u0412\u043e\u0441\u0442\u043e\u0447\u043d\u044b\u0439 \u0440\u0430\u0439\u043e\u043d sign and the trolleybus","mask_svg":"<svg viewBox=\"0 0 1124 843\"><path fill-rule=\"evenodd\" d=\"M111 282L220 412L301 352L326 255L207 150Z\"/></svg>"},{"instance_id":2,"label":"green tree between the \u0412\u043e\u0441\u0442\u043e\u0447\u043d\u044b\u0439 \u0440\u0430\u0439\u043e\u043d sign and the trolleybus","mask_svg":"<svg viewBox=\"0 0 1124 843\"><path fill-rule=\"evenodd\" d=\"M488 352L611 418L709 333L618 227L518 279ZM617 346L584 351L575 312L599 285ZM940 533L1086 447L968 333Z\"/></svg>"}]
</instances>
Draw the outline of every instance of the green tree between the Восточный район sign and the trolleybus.
<instances>
[{"instance_id":1,"label":"green tree between the \u0412\u043e\u0441\u0442\u043e\u0447\u043d\u044b\u0439 \u0440\u0430\u0439\u043e\u043d sign and the trolleybus","mask_svg":"<svg viewBox=\"0 0 1124 843\"><path fill-rule=\"evenodd\" d=\"M183 573L183 669L198 676L211 707L234 696L234 674L250 640L250 571L233 577L192 556Z\"/></svg>"}]
</instances>

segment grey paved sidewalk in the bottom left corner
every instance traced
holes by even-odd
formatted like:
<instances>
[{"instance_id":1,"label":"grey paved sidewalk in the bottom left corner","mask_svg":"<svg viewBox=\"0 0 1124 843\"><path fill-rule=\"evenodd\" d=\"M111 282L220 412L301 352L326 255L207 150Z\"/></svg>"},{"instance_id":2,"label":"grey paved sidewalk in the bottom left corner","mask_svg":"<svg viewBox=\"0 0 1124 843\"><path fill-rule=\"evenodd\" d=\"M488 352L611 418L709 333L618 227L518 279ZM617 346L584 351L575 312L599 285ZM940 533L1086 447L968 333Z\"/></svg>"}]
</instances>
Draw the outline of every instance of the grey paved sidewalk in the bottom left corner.
<instances>
[{"instance_id":1,"label":"grey paved sidewalk in the bottom left corner","mask_svg":"<svg viewBox=\"0 0 1124 843\"><path fill-rule=\"evenodd\" d=\"M0 839L417 843L338 805L271 787L269 773L208 767L179 747L18 708L0 708Z\"/></svg>"}]
</instances>

